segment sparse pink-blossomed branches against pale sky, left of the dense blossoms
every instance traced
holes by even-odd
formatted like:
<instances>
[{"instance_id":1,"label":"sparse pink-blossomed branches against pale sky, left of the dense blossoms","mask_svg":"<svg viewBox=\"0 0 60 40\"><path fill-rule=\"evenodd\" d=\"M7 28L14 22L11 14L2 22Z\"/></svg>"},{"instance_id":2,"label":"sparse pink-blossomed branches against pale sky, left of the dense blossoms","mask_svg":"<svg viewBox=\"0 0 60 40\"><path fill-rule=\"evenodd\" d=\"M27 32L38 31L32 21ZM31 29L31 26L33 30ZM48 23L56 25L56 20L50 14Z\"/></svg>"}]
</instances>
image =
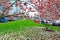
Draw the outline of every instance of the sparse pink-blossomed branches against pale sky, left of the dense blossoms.
<instances>
[{"instance_id":1,"label":"sparse pink-blossomed branches against pale sky, left of the dense blossoms","mask_svg":"<svg viewBox=\"0 0 60 40\"><path fill-rule=\"evenodd\" d=\"M34 16L34 14L38 15L38 10L35 8L34 4L31 3L29 0L24 2L22 0L18 0L13 4L12 1L7 1L2 3L5 10L4 15L13 15L19 14L20 12L24 12L24 14L28 14L30 17ZM10 6L12 5L13 6Z\"/></svg>"}]
</instances>

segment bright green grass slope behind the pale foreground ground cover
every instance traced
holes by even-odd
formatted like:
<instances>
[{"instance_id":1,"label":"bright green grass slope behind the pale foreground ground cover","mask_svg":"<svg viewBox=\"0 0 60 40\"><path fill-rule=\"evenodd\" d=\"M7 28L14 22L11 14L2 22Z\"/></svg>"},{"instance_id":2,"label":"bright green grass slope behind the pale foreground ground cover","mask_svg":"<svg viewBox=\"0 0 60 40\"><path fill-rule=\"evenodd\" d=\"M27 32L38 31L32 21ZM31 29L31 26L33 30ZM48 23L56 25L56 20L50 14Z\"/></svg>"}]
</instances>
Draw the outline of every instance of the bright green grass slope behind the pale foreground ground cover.
<instances>
[{"instance_id":1,"label":"bright green grass slope behind the pale foreground ground cover","mask_svg":"<svg viewBox=\"0 0 60 40\"><path fill-rule=\"evenodd\" d=\"M32 20L18 20L6 23L0 23L0 32L26 30L29 27L45 27L44 24L35 23ZM57 26L49 26L53 30L60 31Z\"/></svg>"}]
</instances>

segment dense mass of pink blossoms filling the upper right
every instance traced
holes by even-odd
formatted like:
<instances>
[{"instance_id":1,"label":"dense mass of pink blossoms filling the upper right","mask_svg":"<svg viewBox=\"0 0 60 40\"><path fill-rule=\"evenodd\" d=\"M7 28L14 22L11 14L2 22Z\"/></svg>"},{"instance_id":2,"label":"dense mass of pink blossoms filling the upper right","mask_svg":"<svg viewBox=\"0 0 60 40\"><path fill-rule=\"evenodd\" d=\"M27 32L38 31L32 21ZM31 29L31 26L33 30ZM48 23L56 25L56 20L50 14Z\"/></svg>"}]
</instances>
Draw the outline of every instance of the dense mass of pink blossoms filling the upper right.
<instances>
[{"instance_id":1,"label":"dense mass of pink blossoms filling the upper right","mask_svg":"<svg viewBox=\"0 0 60 40\"><path fill-rule=\"evenodd\" d=\"M30 0L40 12L41 18L60 19L60 0Z\"/></svg>"}]
</instances>

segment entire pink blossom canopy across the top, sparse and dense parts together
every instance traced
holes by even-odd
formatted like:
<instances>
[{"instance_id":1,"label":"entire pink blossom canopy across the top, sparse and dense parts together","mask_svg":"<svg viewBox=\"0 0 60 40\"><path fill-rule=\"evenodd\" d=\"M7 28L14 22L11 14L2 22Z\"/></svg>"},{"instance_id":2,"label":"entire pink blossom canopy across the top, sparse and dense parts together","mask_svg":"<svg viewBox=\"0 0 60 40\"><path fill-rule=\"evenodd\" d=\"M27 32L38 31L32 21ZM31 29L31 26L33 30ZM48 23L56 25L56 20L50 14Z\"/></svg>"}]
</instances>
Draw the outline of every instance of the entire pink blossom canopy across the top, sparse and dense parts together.
<instances>
[{"instance_id":1,"label":"entire pink blossom canopy across the top, sparse and dense parts together","mask_svg":"<svg viewBox=\"0 0 60 40\"><path fill-rule=\"evenodd\" d=\"M7 9L12 5L12 2L7 1L2 5ZM18 0L14 7L9 7L6 10L5 15L18 14L23 11L30 15L39 14L41 18L47 20L57 20L60 19L60 0L27 0L26 2Z\"/></svg>"}]
</instances>

